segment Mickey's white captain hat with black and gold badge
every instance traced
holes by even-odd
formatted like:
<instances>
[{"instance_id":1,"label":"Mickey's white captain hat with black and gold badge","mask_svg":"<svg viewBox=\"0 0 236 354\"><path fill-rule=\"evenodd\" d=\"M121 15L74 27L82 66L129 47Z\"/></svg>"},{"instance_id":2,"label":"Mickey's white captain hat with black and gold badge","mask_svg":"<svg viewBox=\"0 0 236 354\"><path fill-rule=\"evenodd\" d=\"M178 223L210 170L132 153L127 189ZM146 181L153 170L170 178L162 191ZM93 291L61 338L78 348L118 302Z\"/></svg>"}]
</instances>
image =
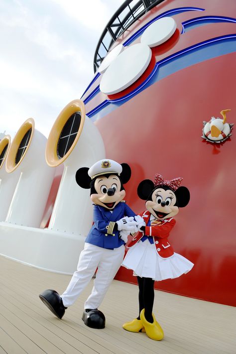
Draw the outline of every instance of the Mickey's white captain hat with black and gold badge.
<instances>
[{"instance_id":1,"label":"Mickey's white captain hat with black and gold badge","mask_svg":"<svg viewBox=\"0 0 236 354\"><path fill-rule=\"evenodd\" d=\"M107 158L100 160L91 166L88 170L88 175L91 177L91 179L93 179L97 176L105 175L107 173L117 173L119 175L121 172L122 166L118 162Z\"/></svg>"}]
</instances>

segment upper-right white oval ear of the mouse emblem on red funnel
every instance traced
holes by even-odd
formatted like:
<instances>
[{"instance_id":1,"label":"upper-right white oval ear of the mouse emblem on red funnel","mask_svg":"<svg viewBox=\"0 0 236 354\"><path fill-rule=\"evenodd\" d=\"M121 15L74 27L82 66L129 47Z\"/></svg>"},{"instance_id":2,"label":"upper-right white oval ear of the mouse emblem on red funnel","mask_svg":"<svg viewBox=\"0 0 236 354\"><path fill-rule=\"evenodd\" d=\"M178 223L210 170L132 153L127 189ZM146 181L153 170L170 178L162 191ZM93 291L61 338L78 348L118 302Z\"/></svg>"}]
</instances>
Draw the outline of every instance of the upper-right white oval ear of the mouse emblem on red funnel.
<instances>
[{"instance_id":1,"label":"upper-right white oval ear of the mouse emblem on red funnel","mask_svg":"<svg viewBox=\"0 0 236 354\"><path fill-rule=\"evenodd\" d=\"M163 17L148 26L141 35L141 43L150 48L167 41L176 30L176 22L172 17Z\"/></svg>"}]
</instances>

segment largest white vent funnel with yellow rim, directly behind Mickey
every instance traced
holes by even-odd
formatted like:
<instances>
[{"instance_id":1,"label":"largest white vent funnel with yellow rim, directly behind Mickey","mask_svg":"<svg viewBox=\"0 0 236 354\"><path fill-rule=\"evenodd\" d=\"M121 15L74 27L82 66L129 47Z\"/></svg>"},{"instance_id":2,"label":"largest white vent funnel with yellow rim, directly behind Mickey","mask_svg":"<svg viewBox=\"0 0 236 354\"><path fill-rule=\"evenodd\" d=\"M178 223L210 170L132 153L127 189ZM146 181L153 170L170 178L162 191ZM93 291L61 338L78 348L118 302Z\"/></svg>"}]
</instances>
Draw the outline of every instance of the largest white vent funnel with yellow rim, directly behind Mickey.
<instances>
[{"instance_id":1,"label":"largest white vent funnel with yellow rim, directly behind Mickey","mask_svg":"<svg viewBox=\"0 0 236 354\"><path fill-rule=\"evenodd\" d=\"M77 185L75 174L80 167L90 167L104 157L103 139L96 125L85 116L84 103L70 102L56 119L46 146L49 166L64 163L48 229L87 235L93 220L90 190Z\"/></svg>"}]
</instances>

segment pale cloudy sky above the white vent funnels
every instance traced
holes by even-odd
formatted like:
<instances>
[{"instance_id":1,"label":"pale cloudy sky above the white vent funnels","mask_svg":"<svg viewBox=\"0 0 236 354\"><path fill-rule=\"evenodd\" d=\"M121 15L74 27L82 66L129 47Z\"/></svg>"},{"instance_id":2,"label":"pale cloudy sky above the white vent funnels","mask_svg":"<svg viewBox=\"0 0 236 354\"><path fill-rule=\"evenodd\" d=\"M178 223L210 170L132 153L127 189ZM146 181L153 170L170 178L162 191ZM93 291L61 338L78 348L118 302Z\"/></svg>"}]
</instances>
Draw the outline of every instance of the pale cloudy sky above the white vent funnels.
<instances>
[{"instance_id":1,"label":"pale cloudy sky above the white vent funnels","mask_svg":"<svg viewBox=\"0 0 236 354\"><path fill-rule=\"evenodd\" d=\"M94 76L106 24L124 0L0 0L0 133L27 118L48 137Z\"/></svg>"}]
</instances>

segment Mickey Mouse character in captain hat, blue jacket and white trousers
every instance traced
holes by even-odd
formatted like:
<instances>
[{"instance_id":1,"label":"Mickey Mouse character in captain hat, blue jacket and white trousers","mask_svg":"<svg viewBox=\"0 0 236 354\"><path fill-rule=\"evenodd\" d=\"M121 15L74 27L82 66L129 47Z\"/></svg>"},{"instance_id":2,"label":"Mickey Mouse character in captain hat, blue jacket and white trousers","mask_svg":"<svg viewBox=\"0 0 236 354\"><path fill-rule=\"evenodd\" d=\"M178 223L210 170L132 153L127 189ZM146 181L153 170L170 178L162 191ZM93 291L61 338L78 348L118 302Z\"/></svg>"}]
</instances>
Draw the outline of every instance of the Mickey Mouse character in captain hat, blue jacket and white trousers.
<instances>
[{"instance_id":1,"label":"Mickey Mouse character in captain hat, blue jacket and white trousers","mask_svg":"<svg viewBox=\"0 0 236 354\"><path fill-rule=\"evenodd\" d=\"M43 303L62 318L88 285L96 272L94 287L84 305L83 321L91 327L105 327L105 316L98 310L124 256L124 241L130 232L137 231L135 213L123 200L123 183L131 176L129 165L106 159L91 168L82 167L76 172L76 182L82 188L91 189L94 203L94 224L85 239L77 270L60 296L55 290L45 290L39 295ZM123 239L124 240L123 240Z\"/></svg>"}]
</instances>

